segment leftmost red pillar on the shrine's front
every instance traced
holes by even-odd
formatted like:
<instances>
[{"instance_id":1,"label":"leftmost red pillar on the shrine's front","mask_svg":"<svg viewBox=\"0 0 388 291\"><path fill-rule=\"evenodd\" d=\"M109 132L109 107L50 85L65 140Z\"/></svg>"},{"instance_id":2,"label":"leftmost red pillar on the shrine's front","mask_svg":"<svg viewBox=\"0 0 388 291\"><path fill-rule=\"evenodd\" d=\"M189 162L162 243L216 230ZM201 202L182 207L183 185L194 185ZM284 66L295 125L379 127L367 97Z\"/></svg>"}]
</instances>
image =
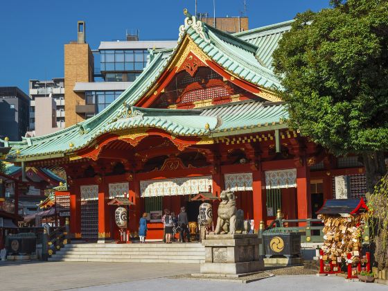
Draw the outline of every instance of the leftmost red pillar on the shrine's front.
<instances>
[{"instance_id":1,"label":"leftmost red pillar on the shrine's front","mask_svg":"<svg viewBox=\"0 0 388 291\"><path fill-rule=\"evenodd\" d=\"M81 197L80 185L71 185L70 194L70 232L73 238L81 238Z\"/></svg>"}]
</instances>

